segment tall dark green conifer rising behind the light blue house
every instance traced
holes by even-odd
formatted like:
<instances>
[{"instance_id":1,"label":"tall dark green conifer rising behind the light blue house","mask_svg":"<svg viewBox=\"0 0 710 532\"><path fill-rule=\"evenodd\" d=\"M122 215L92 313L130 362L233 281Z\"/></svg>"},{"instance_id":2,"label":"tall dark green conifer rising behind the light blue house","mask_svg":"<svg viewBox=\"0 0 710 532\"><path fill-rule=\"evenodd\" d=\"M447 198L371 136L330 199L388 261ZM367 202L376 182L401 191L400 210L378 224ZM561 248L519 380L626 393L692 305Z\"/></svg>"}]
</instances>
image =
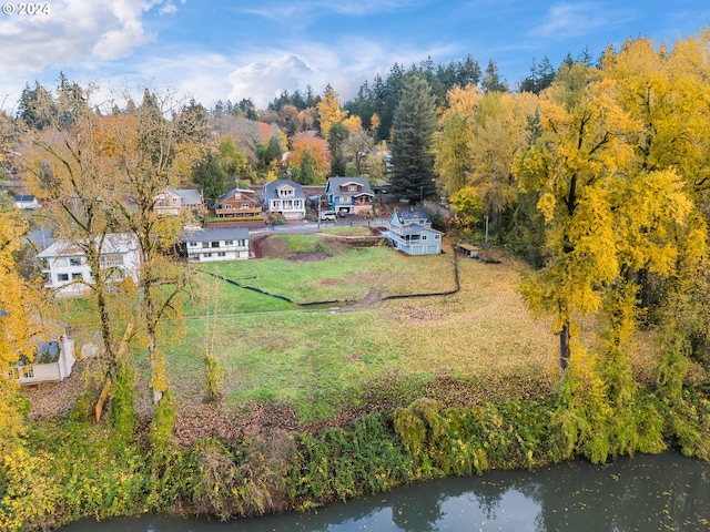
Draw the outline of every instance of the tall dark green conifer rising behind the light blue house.
<instances>
[{"instance_id":1,"label":"tall dark green conifer rising behind the light blue house","mask_svg":"<svg viewBox=\"0 0 710 532\"><path fill-rule=\"evenodd\" d=\"M416 203L435 194L432 142L437 129L429 86L409 76L394 116L392 194Z\"/></svg>"}]
</instances>

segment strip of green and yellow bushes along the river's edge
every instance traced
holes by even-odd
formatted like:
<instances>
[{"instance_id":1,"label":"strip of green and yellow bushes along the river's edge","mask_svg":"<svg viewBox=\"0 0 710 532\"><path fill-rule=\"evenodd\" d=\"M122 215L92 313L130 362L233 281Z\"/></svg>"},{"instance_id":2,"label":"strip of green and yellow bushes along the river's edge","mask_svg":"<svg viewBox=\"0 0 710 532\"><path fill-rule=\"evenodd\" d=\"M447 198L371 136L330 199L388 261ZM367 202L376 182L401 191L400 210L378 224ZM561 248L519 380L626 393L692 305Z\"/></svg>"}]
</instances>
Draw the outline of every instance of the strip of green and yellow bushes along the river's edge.
<instances>
[{"instance_id":1,"label":"strip of green and yellow bushes along the river's edge","mask_svg":"<svg viewBox=\"0 0 710 532\"><path fill-rule=\"evenodd\" d=\"M638 401L663 412L652 393ZM707 400L696 407L707 410ZM163 449L126 441L105 426L47 420L31 428L27 454L4 459L1 524L41 530L144 513L231 520L307 510L446 475L534 470L585 458L584 439L569 452L564 413L554 396L475 408L420 399L317 432L274 430L267 438L207 438ZM640 421L637 446L623 454L678 443L673 438L643 448L645 439L661 434Z\"/></svg>"}]
</instances>

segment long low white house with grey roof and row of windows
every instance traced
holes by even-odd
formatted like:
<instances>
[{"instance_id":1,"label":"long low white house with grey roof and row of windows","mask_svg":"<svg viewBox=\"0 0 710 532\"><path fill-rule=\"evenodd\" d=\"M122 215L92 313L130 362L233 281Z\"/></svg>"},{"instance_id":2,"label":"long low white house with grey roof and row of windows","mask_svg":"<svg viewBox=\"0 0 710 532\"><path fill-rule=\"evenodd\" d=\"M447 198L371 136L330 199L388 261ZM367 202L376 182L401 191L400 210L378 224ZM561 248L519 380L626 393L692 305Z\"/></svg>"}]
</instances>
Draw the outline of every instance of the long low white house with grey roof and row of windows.
<instances>
[{"instance_id":1,"label":"long low white house with grey roof and row of windows","mask_svg":"<svg viewBox=\"0 0 710 532\"><path fill-rule=\"evenodd\" d=\"M207 263L248 258L248 229L197 229L183 233L187 260Z\"/></svg>"}]
</instances>

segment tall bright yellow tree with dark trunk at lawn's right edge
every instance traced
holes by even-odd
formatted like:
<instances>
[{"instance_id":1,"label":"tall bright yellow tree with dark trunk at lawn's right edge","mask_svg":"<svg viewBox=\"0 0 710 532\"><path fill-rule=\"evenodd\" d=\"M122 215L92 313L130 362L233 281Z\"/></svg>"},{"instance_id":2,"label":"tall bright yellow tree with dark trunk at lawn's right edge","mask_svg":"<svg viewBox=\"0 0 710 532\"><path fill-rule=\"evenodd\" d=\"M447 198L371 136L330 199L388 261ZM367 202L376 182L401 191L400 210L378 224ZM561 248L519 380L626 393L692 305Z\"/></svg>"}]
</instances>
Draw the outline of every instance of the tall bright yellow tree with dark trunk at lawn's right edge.
<instances>
[{"instance_id":1,"label":"tall bright yellow tree with dark trunk at lawn's right edge","mask_svg":"<svg viewBox=\"0 0 710 532\"><path fill-rule=\"evenodd\" d=\"M622 296L635 283L629 274L647 267L670 275L684 244L673 235L692 216L671 168L633 170L628 139L639 123L597 75L584 63L562 65L540 96L541 134L514 167L521 188L539 194L550 255L523 293L532 308L555 316L561 369L575 350L577 317L604 309L609 330L630 326L635 301Z\"/></svg>"}]
</instances>

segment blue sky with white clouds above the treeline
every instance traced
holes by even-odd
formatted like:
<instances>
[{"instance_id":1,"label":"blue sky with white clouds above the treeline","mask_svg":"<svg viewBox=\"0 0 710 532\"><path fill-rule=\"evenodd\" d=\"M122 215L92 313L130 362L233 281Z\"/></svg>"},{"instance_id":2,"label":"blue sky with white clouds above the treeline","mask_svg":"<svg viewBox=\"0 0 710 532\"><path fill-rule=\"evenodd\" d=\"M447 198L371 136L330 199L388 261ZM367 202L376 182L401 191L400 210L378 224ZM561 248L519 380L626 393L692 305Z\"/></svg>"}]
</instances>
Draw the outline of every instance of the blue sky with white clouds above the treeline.
<instances>
[{"instance_id":1,"label":"blue sky with white clouds above the treeline","mask_svg":"<svg viewBox=\"0 0 710 532\"><path fill-rule=\"evenodd\" d=\"M13 110L26 83L59 72L95 83L100 98L142 86L175 89L212 106L329 83L341 100L365 81L466 54L498 64L511 88L535 58L649 37L658 44L710 22L708 0L50 0L49 13L0 14L0 104ZM2 3L2 2L0 2Z\"/></svg>"}]
</instances>

